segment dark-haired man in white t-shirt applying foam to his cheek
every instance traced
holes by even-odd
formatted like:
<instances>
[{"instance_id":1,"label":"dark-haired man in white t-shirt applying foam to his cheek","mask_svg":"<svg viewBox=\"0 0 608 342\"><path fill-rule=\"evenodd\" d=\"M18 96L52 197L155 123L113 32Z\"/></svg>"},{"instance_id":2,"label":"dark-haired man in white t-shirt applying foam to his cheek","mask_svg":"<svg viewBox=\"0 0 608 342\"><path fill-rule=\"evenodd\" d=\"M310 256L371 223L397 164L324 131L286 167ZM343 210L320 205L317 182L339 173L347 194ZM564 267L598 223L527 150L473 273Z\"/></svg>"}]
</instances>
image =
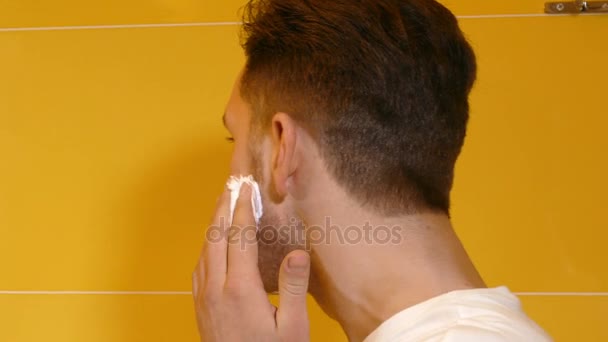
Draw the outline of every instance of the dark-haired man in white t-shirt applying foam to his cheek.
<instances>
[{"instance_id":1,"label":"dark-haired man in white t-shirt applying foam to his cheek","mask_svg":"<svg viewBox=\"0 0 608 342\"><path fill-rule=\"evenodd\" d=\"M230 225L220 197L193 276L201 339L308 341L309 292L351 341L549 340L486 288L450 224L476 72L454 16L432 0L245 13L224 122L231 171L253 174L264 215L245 185Z\"/></svg>"}]
</instances>

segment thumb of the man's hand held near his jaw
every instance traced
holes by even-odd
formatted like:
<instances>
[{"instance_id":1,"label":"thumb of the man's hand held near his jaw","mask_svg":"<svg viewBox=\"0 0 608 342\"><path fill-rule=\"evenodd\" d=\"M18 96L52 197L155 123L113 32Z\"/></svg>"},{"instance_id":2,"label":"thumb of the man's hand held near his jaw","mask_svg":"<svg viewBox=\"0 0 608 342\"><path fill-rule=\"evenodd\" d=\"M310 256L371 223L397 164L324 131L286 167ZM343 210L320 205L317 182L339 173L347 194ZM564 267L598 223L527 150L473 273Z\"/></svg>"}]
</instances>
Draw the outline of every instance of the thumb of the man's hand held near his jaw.
<instances>
[{"instance_id":1,"label":"thumb of the man's hand held near his jaw","mask_svg":"<svg viewBox=\"0 0 608 342\"><path fill-rule=\"evenodd\" d=\"M310 256L303 250L287 254L279 272L277 327L283 340L309 341L306 294Z\"/></svg>"}]
</instances>

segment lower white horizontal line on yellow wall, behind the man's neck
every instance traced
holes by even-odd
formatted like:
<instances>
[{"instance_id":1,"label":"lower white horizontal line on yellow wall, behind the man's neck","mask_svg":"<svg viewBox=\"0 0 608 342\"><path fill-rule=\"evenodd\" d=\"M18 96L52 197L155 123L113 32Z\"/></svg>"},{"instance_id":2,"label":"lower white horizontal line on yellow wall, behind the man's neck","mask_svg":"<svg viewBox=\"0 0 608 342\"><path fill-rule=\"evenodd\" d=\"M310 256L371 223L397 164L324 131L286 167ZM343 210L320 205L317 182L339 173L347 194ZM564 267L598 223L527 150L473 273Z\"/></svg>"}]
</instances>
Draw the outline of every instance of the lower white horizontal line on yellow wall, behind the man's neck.
<instances>
[{"instance_id":1,"label":"lower white horizontal line on yellow wall, behind the man's neck","mask_svg":"<svg viewBox=\"0 0 608 342\"><path fill-rule=\"evenodd\" d=\"M530 297L608 297L608 292L514 292ZM190 296L189 291L0 291L0 295Z\"/></svg>"}]
</instances>

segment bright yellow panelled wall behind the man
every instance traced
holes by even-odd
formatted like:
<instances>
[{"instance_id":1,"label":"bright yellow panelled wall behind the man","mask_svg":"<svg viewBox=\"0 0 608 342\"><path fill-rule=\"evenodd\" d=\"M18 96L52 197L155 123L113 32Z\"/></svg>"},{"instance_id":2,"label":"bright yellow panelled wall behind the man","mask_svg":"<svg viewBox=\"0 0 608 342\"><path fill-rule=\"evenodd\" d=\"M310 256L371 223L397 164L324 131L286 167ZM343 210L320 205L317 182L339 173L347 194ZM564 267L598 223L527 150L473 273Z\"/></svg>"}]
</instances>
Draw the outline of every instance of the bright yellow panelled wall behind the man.
<instances>
[{"instance_id":1,"label":"bright yellow panelled wall behind the man","mask_svg":"<svg viewBox=\"0 0 608 342\"><path fill-rule=\"evenodd\" d=\"M187 293L227 175L241 2L0 2L0 341L197 339ZM556 340L608 340L608 15L445 3L480 64L458 232ZM186 22L211 24L158 27ZM311 311L313 340L345 340Z\"/></svg>"}]
</instances>

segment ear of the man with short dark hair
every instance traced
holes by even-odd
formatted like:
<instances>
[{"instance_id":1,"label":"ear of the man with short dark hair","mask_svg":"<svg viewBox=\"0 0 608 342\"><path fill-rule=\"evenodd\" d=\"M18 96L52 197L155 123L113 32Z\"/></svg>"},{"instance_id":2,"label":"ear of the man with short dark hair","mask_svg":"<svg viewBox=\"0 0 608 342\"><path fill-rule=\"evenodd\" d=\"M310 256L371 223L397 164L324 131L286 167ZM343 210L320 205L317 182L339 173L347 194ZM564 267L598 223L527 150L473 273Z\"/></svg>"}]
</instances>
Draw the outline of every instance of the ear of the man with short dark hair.
<instances>
[{"instance_id":1,"label":"ear of the man with short dark hair","mask_svg":"<svg viewBox=\"0 0 608 342\"><path fill-rule=\"evenodd\" d=\"M272 117L272 182L279 197L287 195L289 177L297 169L296 122L286 113Z\"/></svg>"}]
</instances>

